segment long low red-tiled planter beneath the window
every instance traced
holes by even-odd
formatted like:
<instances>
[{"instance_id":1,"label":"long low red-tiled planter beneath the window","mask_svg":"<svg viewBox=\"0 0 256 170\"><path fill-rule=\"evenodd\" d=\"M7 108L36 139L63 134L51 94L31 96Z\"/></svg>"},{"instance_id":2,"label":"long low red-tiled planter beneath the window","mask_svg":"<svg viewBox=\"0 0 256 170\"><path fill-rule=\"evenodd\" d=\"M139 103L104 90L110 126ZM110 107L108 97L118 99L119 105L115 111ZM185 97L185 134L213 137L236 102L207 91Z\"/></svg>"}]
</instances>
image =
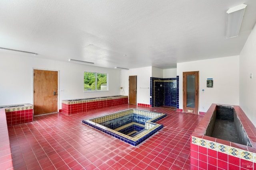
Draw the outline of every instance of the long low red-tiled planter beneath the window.
<instances>
[{"instance_id":1,"label":"long low red-tiled planter beneath the window","mask_svg":"<svg viewBox=\"0 0 256 170\"><path fill-rule=\"evenodd\" d=\"M128 96L107 96L62 100L62 112L67 115L128 104Z\"/></svg>"}]
</instances>

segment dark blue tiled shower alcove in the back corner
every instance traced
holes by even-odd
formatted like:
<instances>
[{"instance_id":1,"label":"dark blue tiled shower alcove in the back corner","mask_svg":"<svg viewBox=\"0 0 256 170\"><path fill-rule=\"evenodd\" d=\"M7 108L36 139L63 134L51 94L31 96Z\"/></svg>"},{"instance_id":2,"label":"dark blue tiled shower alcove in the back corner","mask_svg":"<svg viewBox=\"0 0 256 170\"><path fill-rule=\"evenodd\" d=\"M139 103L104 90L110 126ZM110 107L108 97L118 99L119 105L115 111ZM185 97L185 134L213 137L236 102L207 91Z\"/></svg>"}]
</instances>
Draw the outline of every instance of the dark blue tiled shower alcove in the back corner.
<instances>
[{"instance_id":1,"label":"dark blue tiled shower alcove in the back corner","mask_svg":"<svg viewBox=\"0 0 256 170\"><path fill-rule=\"evenodd\" d=\"M178 105L177 78L150 78L150 104L152 107Z\"/></svg>"}]
</instances>

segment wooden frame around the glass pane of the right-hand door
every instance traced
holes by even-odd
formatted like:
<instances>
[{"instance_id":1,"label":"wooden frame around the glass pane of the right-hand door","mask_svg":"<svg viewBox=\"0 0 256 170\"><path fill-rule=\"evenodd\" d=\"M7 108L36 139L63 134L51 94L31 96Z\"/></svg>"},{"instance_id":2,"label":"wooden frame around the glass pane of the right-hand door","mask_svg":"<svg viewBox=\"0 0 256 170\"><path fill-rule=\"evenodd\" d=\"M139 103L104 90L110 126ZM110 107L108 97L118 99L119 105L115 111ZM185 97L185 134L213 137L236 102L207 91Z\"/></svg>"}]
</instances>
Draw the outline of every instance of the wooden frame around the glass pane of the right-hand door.
<instances>
[{"instance_id":1,"label":"wooden frame around the glass pane of the right-hand door","mask_svg":"<svg viewBox=\"0 0 256 170\"><path fill-rule=\"evenodd\" d=\"M182 76L183 76L183 80L182 80L182 84L183 84L183 89L182 89L182 95L183 95L183 112L185 113L191 113L191 112L187 112L185 111L185 83L184 83L184 73L186 74L197 74L197 81L195 81L195 84L197 85L197 87L195 87L196 90L196 96L195 96L195 111L193 114L199 114L199 71L188 71L188 72L182 72ZM188 107L189 108L189 107ZM191 108L191 107L190 107Z\"/></svg>"}]
</instances>

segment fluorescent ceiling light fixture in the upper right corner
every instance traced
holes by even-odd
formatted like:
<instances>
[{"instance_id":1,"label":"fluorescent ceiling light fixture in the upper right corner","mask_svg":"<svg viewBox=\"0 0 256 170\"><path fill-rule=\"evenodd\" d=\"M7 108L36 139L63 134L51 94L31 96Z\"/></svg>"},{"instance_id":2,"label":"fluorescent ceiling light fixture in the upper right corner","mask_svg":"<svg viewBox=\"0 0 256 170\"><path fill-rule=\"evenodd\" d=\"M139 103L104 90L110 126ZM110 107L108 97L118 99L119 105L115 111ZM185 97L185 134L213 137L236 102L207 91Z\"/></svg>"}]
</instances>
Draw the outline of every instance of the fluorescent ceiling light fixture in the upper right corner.
<instances>
[{"instance_id":1,"label":"fluorescent ceiling light fixture in the upper right corner","mask_svg":"<svg viewBox=\"0 0 256 170\"><path fill-rule=\"evenodd\" d=\"M247 5L241 4L230 8L227 11L226 19L226 38L237 37L240 31L244 12Z\"/></svg>"}]
</instances>

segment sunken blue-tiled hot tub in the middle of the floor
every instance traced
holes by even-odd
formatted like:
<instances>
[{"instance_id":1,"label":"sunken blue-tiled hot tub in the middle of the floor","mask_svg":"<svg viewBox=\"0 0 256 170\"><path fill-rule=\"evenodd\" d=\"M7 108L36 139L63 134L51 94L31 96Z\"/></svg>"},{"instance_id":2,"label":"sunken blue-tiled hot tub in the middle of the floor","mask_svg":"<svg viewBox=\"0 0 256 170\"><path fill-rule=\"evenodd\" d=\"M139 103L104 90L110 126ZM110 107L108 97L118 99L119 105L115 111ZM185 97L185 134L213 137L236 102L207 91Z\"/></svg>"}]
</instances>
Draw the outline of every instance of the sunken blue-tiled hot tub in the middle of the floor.
<instances>
[{"instance_id":1,"label":"sunken blue-tiled hot tub in the middle of the floor","mask_svg":"<svg viewBox=\"0 0 256 170\"><path fill-rule=\"evenodd\" d=\"M166 114L163 113L128 109L82 122L130 145L137 146L163 128L163 125L155 122L164 117Z\"/></svg>"}]
</instances>

